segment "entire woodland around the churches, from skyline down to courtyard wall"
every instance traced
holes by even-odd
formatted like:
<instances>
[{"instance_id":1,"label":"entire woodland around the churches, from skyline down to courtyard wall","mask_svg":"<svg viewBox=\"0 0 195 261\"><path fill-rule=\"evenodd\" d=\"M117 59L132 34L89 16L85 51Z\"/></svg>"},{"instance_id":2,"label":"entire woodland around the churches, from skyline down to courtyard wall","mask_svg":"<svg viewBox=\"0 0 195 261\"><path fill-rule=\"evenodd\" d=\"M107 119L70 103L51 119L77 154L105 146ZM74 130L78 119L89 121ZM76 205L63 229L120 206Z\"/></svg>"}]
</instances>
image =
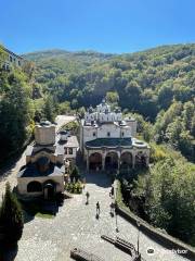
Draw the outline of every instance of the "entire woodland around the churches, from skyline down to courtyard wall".
<instances>
[{"instance_id":1,"label":"entire woodland around the churches, from skyline down to courtyard wall","mask_svg":"<svg viewBox=\"0 0 195 261\"><path fill-rule=\"evenodd\" d=\"M0 48L0 67L1 58ZM24 58L29 62L22 69L0 69L0 164L29 140L36 121L81 115L106 96L138 120L138 136L151 145L151 167L120 177L127 204L195 246L195 45L121 55L51 50Z\"/></svg>"}]
</instances>

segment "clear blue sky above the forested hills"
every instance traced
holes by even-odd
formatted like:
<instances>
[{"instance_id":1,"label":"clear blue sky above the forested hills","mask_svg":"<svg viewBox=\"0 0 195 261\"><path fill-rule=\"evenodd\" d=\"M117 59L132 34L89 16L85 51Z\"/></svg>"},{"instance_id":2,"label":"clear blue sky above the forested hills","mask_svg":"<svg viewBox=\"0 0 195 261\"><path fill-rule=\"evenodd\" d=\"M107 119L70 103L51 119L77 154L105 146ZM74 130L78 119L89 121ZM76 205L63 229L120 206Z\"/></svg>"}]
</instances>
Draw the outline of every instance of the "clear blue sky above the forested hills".
<instances>
[{"instance_id":1,"label":"clear blue sky above the forested hills","mask_svg":"<svg viewBox=\"0 0 195 261\"><path fill-rule=\"evenodd\" d=\"M17 53L195 42L195 1L0 0L0 42Z\"/></svg>"}]
</instances>

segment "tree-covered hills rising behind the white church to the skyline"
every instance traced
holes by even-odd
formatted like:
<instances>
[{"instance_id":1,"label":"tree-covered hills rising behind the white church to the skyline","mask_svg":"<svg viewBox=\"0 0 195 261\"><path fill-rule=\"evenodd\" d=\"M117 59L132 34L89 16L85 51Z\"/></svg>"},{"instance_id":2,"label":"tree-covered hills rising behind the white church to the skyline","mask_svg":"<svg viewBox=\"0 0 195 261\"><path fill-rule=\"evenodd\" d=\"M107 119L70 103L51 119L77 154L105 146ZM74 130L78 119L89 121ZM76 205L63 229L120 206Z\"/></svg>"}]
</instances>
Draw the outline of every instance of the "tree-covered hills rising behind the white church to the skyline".
<instances>
[{"instance_id":1,"label":"tree-covered hills rising behind the white church to the skyline","mask_svg":"<svg viewBox=\"0 0 195 261\"><path fill-rule=\"evenodd\" d=\"M123 113L152 123L147 139L168 142L194 161L195 45L121 55L51 50L25 58L36 62L40 97L50 94L61 112L95 105L107 95Z\"/></svg>"}]
</instances>

